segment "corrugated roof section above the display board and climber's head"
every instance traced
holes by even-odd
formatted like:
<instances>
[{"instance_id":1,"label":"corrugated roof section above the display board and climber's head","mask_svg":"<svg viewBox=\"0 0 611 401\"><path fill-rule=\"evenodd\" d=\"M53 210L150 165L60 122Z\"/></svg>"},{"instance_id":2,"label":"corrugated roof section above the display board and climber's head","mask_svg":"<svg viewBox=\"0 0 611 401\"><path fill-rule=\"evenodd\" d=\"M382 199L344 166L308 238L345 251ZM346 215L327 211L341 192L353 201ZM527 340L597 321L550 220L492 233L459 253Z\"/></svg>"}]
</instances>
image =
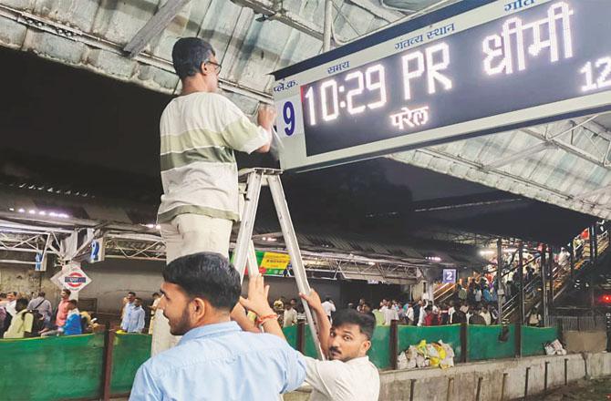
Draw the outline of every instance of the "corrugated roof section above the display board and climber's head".
<instances>
[{"instance_id":1,"label":"corrugated roof section above the display board and climber's head","mask_svg":"<svg viewBox=\"0 0 611 401\"><path fill-rule=\"evenodd\" d=\"M437 0L436 0L437 1ZM168 4L185 4L139 56L125 57L124 47ZM71 67L83 67L164 93L176 93L178 77L171 67L171 47L182 36L200 36L216 49L223 63L222 85L248 113L257 100L271 99L275 69L313 57L322 42L274 18L289 15L313 30L323 29L324 0L264 0L248 4L277 7L261 18L241 0L98 0L0 1L0 45L31 51ZM416 9L430 0L410 2ZM440 3L448 3L441 0ZM404 14L370 0L336 1L338 38L353 39L385 26Z\"/></svg>"}]
</instances>

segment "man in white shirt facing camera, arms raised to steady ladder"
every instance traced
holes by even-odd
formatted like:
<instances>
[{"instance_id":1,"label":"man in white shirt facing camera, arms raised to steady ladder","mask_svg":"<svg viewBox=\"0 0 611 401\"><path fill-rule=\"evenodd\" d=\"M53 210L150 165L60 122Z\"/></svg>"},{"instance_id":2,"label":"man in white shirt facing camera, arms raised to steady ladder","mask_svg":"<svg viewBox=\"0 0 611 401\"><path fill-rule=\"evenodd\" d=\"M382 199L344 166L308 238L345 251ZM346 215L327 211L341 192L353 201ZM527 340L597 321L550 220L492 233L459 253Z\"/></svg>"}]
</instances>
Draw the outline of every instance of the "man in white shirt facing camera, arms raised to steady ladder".
<instances>
[{"instance_id":1,"label":"man in white shirt facing camera, arms raised to steady ladder","mask_svg":"<svg viewBox=\"0 0 611 401\"><path fill-rule=\"evenodd\" d=\"M248 283L248 299L240 299L243 307L255 314L268 317L271 311L267 302L267 291L263 276ZM308 356L306 359L306 383L312 386L310 401L377 401L379 396L378 368L367 356L371 337L376 328L372 314L359 313L355 309L342 309L333 316L333 325L326 319L326 311L316 291L309 295L299 294L316 315L318 338L327 361ZM254 331L250 320L244 318L243 310L232 317L244 330ZM282 338L285 335L280 325L270 319L265 332Z\"/></svg>"}]
</instances>

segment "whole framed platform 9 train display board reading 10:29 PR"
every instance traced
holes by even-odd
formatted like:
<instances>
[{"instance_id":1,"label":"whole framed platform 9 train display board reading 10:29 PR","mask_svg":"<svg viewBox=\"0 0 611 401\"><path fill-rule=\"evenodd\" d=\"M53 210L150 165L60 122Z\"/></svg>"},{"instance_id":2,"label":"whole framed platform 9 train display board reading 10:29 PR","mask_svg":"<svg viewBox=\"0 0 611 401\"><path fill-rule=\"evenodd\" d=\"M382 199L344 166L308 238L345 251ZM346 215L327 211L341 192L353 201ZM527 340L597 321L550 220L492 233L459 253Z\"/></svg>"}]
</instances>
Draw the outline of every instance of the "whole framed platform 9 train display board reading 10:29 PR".
<instances>
[{"instance_id":1,"label":"whole framed platform 9 train display board reading 10:29 PR","mask_svg":"<svg viewBox=\"0 0 611 401\"><path fill-rule=\"evenodd\" d=\"M611 1L469 0L276 71L285 170L611 108Z\"/></svg>"}]
</instances>

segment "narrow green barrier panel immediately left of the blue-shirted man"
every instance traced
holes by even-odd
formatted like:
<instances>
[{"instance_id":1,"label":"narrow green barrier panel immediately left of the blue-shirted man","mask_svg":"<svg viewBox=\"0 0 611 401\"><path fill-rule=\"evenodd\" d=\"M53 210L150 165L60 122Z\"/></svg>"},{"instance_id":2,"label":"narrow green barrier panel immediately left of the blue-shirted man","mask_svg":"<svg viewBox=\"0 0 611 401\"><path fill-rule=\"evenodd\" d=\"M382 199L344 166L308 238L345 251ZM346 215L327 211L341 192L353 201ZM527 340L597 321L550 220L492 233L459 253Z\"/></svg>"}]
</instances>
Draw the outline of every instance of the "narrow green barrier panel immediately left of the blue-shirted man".
<instances>
[{"instance_id":1,"label":"narrow green barrier panel immediately left of the blue-shirted man","mask_svg":"<svg viewBox=\"0 0 611 401\"><path fill-rule=\"evenodd\" d=\"M112 394L128 393L136 371L150 358L149 334L116 334L112 350Z\"/></svg>"}]
</instances>

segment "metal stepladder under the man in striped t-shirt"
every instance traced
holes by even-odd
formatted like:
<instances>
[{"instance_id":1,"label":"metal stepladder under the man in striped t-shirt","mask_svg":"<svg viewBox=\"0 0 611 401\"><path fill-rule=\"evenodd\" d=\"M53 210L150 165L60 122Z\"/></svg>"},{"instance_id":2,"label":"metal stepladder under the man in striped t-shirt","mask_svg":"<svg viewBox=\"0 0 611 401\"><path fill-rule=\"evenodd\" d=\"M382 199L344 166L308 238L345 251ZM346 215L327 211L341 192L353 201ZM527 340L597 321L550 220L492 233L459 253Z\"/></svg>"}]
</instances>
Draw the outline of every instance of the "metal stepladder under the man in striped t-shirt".
<instances>
[{"instance_id":1,"label":"metal stepladder under the man in striped t-shirt","mask_svg":"<svg viewBox=\"0 0 611 401\"><path fill-rule=\"evenodd\" d=\"M240 280L243 281L244 267L248 267L248 276L255 277L259 274L259 267L254 253L253 229L254 219L256 217L257 207L259 205L259 196L261 195L261 187L267 184L272 192L275 211L280 221L280 227L285 239L285 246L288 254L291 257L291 264L295 274L295 281L300 293L310 293L310 285L307 283L306 267L301 258L297 236L291 221L291 215L286 204L285 190L282 188L280 175L282 170L274 169L248 169L240 171L241 192L244 197L242 221L240 221L240 231L235 242L233 264L240 272ZM245 182L245 187L244 187ZM306 318L310 333L316 344L316 353L319 358L323 358L323 353L320 348L318 336L316 335L317 324L308 304L304 301L304 309L306 310Z\"/></svg>"}]
</instances>

